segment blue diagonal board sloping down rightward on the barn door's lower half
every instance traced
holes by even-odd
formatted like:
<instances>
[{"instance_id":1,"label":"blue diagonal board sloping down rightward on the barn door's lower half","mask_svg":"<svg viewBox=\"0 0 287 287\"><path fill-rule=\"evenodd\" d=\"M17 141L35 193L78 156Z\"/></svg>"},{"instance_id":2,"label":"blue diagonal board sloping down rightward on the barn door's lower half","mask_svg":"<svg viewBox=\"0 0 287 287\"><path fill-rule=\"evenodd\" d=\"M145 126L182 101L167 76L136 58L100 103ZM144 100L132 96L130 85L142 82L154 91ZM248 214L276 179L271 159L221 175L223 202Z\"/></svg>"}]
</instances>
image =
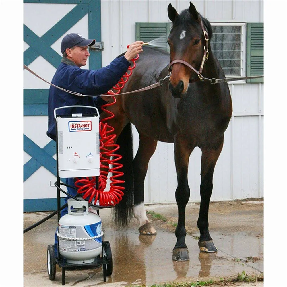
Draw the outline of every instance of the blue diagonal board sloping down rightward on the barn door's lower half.
<instances>
[{"instance_id":1,"label":"blue diagonal board sloping down rightward on the barn door's lower half","mask_svg":"<svg viewBox=\"0 0 287 287\"><path fill-rule=\"evenodd\" d=\"M41 166L44 166L52 174L57 172L57 161L46 151L35 144L31 139L24 135L24 151L34 158Z\"/></svg>"}]
</instances>

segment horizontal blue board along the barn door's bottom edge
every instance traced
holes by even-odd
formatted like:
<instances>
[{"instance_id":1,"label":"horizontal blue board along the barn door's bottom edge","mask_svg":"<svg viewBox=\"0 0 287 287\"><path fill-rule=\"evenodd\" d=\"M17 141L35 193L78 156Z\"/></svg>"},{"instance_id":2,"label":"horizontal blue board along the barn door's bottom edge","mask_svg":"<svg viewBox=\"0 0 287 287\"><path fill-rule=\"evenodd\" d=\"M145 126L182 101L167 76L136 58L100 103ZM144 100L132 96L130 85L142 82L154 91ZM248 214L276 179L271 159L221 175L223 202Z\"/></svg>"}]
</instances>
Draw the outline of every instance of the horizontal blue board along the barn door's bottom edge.
<instances>
[{"instance_id":1,"label":"horizontal blue board along the barn door's bottom edge","mask_svg":"<svg viewBox=\"0 0 287 287\"><path fill-rule=\"evenodd\" d=\"M55 187L56 188L56 187ZM65 198L61 198L61 206L65 204ZM55 211L57 210L57 198L24 199L24 212Z\"/></svg>"}]
</instances>

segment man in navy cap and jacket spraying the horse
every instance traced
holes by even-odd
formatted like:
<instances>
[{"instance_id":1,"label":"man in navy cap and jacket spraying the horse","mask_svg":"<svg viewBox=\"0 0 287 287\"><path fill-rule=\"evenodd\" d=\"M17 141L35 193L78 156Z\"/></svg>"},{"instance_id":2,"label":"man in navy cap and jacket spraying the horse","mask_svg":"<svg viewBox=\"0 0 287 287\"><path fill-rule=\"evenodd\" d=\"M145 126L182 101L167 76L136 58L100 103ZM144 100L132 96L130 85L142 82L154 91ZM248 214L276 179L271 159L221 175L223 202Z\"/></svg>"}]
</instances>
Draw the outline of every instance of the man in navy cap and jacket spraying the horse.
<instances>
[{"instance_id":1,"label":"man in navy cap and jacket spraying the horse","mask_svg":"<svg viewBox=\"0 0 287 287\"><path fill-rule=\"evenodd\" d=\"M51 83L83 95L105 94L117 84L128 70L130 66L129 61L143 51L142 44L144 42L136 41L130 44L123 56L114 59L106 67L102 67L96 71L81 69L82 66L86 65L87 59L90 56L88 46L94 43L95 40L85 39L80 34L67 34L61 42L63 58ZM92 106L100 110L100 107L105 103L106 101L100 97L76 96L51 85L48 98L48 137L56 141L55 108L63 106ZM74 107L57 110L57 115L71 115L73 113L90 114L94 113L94 109ZM66 184L74 187L74 179L67 178ZM77 190L70 187L67 187L67 191L73 196L77 194ZM65 203L67 203L67 199L68 196L65 198ZM67 214L67 208L62 210L61 216L65 214ZM58 256L57 241L58 237L55 234L56 257Z\"/></svg>"}]
</instances>

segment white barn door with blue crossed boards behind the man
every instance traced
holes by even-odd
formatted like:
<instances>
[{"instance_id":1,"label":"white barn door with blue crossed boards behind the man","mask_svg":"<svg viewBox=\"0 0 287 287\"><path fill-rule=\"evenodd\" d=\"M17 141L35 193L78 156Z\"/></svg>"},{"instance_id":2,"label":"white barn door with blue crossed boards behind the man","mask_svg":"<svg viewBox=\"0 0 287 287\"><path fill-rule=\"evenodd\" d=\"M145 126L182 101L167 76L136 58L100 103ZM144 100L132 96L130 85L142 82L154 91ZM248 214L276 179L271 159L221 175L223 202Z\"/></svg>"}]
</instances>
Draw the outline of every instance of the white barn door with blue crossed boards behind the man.
<instances>
[{"instance_id":1,"label":"white barn door with blue crossed boards behind the man","mask_svg":"<svg viewBox=\"0 0 287 287\"><path fill-rule=\"evenodd\" d=\"M100 0L24 0L24 64L51 81L67 33L101 41ZM90 50L85 69L102 65ZM24 212L55 210L56 146L46 136L49 85L24 70Z\"/></svg>"}]
</instances>

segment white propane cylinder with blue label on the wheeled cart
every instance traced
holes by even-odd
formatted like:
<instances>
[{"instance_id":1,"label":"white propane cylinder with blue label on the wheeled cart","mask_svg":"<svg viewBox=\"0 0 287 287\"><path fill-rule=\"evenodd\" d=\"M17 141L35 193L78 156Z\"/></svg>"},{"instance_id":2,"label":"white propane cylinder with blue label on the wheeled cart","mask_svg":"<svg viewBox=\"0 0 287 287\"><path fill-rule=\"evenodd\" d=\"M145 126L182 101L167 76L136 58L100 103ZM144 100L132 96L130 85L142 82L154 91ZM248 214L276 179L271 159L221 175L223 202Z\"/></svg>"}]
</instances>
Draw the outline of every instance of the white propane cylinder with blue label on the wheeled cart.
<instances>
[{"instance_id":1,"label":"white propane cylinder with blue label on the wheeled cart","mask_svg":"<svg viewBox=\"0 0 287 287\"><path fill-rule=\"evenodd\" d=\"M102 252L102 221L88 209L88 201L70 198L68 213L59 220L59 252L67 263L92 263Z\"/></svg>"}]
</instances>

